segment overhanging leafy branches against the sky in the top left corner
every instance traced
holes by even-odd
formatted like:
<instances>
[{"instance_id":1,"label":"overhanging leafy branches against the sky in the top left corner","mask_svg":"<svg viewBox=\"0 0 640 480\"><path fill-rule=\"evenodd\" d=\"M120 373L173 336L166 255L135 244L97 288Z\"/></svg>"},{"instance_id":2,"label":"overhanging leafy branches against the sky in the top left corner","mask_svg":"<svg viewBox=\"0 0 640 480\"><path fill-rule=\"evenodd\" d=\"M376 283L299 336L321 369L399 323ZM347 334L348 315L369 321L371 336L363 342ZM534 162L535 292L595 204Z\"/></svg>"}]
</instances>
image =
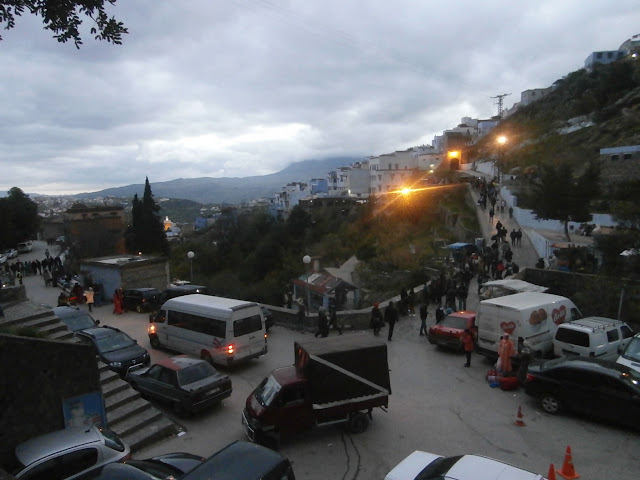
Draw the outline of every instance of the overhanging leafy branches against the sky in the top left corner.
<instances>
[{"instance_id":1,"label":"overhanging leafy branches against the sky in the top left corner","mask_svg":"<svg viewBox=\"0 0 640 480\"><path fill-rule=\"evenodd\" d=\"M0 25L6 24L4 29L10 30L16 25L16 17L28 11L42 17L45 30L51 30L58 42L73 40L76 48L80 48L82 38L79 27L82 24L81 16L85 16L93 21L91 34L95 35L96 40L121 45L122 35L129 31L122 22L107 15L105 3L115 5L116 0L0 0Z\"/></svg>"}]
</instances>

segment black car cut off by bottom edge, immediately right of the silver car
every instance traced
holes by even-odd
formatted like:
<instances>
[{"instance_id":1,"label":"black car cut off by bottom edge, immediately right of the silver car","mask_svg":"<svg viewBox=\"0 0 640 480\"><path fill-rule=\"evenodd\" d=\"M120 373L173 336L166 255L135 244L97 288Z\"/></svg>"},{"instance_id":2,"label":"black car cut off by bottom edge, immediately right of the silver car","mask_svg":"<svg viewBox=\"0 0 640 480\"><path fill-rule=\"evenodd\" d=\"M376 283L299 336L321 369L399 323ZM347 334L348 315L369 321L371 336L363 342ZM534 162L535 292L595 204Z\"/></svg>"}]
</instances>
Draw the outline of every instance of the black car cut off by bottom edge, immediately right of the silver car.
<instances>
[{"instance_id":1,"label":"black car cut off by bottom edge, immediately right of the silver car","mask_svg":"<svg viewBox=\"0 0 640 480\"><path fill-rule=\"evenodd\" d=\"M182 477L204 461L190 453L167 453L146 460L125 460L110 463L82 480L173 480Z\"/></svg>"}]
</instances>

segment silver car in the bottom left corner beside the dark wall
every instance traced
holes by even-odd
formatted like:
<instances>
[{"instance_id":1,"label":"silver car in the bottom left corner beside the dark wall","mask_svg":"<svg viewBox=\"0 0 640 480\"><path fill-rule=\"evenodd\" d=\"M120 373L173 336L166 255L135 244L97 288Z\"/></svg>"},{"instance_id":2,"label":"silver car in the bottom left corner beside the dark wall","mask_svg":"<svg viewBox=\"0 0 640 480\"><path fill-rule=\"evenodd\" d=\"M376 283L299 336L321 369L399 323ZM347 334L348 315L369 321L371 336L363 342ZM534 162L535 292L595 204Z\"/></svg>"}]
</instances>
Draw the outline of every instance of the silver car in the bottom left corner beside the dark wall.
<instances>
[{"instance_id":1,"label":"silver car in the bottom left corner beside the dark wall","mask_svg":"<svg viewBox=\"0 0 640 480\"><path fill-rule=\"evenodd\" d=\"M65 428L20 443L15 448L16 478L31 480L80 478L129 455L129 447L111 430Z\"/></svg>"}]
</instances>

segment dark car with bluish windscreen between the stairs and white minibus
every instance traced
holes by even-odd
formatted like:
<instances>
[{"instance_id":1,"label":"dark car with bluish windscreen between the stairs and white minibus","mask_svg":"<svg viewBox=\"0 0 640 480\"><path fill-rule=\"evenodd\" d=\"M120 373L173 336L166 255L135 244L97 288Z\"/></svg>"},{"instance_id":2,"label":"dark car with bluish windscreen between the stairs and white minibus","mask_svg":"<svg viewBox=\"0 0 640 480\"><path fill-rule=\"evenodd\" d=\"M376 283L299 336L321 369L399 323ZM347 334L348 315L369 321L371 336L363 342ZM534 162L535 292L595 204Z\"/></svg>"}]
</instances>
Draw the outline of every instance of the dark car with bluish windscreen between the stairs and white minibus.
<instances>
[{"instance_id":1,"label":"dark car with bluish windscreen between the stairs and white minibus","mask_svg":"<svg viewBox=\"0 0 640 480\"><path fill-rule=\"evenodd\" d=\"M93 345L100 360L123 378L130 368L148 366L151 362L149 352L144 347L115 327L88 328L79 330L76 335Z\"/></svg>"}]
</instances>

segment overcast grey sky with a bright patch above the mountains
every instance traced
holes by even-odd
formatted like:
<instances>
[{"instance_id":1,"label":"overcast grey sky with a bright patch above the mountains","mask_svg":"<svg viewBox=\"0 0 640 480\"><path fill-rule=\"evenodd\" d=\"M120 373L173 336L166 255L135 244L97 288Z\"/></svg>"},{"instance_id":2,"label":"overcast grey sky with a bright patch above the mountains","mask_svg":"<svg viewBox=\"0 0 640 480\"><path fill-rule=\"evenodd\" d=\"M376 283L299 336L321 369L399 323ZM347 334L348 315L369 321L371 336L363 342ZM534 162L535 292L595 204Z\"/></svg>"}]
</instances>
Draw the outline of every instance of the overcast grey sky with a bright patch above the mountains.
<instances>
[{"instance_id":1,"label":"overcast grey sky with a bright patch above the mountains","mask_svg":"<svg viewBox=\"0 0 640 480\"><path fill-rule=\"evenodd\" d=\"M430 144L640 33L637 0L135 0L122 45L0 42L0 192L244 177ZM4 27L5 25L1 25Z\"/></svg>"}]
</instances>

